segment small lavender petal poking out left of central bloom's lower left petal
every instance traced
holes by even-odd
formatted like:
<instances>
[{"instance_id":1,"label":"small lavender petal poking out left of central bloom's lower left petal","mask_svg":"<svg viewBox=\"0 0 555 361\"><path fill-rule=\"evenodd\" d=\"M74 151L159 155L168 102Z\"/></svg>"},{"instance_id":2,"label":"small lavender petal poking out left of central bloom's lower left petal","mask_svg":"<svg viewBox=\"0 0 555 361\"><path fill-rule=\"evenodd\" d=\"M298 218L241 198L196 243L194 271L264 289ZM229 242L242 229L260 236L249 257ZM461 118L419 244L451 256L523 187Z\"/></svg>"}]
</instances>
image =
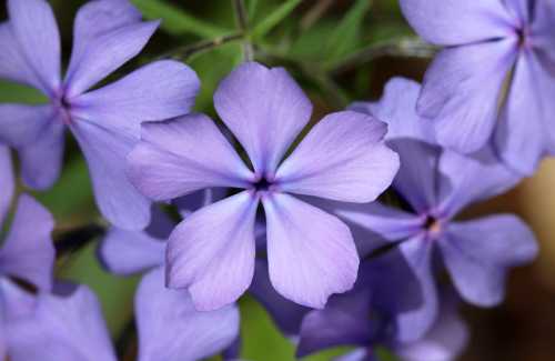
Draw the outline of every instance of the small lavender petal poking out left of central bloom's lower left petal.
<instances>
[{"instance_id":1,"label":"small lavender petal poking out left of central bloom's lower left petal","mask_svg":"<svg viewBox=\"0 0 555 361\"><path fill-rule=\"evenodd\" d=\"M102 264L115 274L133 274L164 264L165 234L173 222L162 211L154 209L152 221L144 231L129 231L112 227L99 247Z\"/></svg>"}]
</instances>

